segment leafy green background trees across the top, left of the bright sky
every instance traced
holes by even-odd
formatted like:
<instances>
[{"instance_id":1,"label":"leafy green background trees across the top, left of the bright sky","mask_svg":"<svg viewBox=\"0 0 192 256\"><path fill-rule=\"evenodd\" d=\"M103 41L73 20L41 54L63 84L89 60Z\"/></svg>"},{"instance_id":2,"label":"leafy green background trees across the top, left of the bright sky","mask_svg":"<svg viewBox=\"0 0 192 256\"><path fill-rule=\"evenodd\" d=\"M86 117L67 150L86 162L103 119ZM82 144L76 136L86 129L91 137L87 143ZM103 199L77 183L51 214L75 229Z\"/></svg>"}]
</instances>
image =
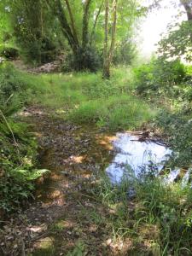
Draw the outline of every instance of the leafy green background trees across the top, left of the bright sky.
<instances>
[{"instance_id":1,"label":"leafy green background trees across the top, left of the bright sky","mask_svg":"<svg viewBox=\"0 0 192 256\"><path fill-rule=\"evenodd\" d=\"M84 1L70 1L69 6L65 1L1 1L0 43L16 45L22 59L34 66L52 61L62 51L67 55L64 71L96 72L102 61L104 4L102 0L91 1L87 14ZM133 25L145 9L139 1L126 0L119 1L117 11L115 63L130 63L134 52ZM110 26L112 19L109 17Z\"/></svg>"}]
</instances>

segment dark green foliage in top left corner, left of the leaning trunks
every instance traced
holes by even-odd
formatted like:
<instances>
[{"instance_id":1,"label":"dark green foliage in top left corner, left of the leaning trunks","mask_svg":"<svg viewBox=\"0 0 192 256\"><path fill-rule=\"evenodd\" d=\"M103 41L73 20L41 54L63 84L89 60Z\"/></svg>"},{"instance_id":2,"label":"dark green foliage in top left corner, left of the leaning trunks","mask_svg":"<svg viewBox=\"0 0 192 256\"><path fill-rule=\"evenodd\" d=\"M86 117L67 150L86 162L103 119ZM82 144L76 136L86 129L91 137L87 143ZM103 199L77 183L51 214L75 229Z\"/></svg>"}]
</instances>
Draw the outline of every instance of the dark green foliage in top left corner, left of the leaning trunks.
<instances>
[{"instance_id":1,"label":"dark green foliage in top left corner, left of the leaning trunks","mask_svg":"<svg viewBox=\"0 0 192 256\"><path fill-rule=\"evenodd\" d=\"M58 21L49 19L44 0L3 1L2 8L9 23L9 32L3 34L4 43L16 44L24 61L32 65L55 59L61 49L61 37L55 37Z\"/></svg>"}]
</instances>

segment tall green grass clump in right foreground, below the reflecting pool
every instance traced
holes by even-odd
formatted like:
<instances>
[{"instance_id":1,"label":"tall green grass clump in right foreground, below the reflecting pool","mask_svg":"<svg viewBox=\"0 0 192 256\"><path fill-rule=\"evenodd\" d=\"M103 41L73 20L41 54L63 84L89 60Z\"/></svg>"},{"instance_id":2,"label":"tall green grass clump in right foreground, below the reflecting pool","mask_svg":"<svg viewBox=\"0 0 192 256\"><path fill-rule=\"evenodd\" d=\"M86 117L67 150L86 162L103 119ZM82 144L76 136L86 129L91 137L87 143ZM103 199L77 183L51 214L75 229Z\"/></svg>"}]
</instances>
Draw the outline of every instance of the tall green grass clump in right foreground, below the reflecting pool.
<instances>
[{"instance_id":1,"label":"tall green grass clump in right foreground, below the reflecting pool","mask_svg":"<svg viewBox=\"0 0 192 256\"><path fill-rule=\"evenodd\" d=\"M127 192L134 185L135 198ZM105 219L113 241L131 239L134 255L191 255L191 189L162 183L160 177L123 180L112 185L101 177L93 194L113 210ZM145 247L144 245L148 245Z\"/></svg>"}]
</instances>

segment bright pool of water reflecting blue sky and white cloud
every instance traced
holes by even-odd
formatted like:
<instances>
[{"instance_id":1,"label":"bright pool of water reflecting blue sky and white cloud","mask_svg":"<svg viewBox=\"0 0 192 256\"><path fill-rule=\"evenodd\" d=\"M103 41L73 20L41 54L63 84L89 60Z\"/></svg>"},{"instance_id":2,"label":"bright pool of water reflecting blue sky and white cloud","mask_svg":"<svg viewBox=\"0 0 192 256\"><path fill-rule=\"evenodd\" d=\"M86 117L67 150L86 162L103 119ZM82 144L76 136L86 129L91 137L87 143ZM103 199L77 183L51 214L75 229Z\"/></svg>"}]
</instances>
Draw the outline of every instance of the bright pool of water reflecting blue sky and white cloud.
<instances>
[{"instance_id":1,"label":"bright pool of water reflecting blue sky and white cloud","mask_svg":"<svg viewBox=\"0 0 192 256\"><path fill-rule=\"evenodd\" d=\"M141 177L143 172L160 174L166 161L172 154L172 150L165 145L155 143L152 140L130 133L118 133L113 141L113 149L116 152L112 163L106 169L112 183L120 183L123 178L132 179ZM172 183L180 175L181 170L176 168L167 173L164 182ZM189 177L184 175L183 183Z\"/></svg>"}]
</instances>

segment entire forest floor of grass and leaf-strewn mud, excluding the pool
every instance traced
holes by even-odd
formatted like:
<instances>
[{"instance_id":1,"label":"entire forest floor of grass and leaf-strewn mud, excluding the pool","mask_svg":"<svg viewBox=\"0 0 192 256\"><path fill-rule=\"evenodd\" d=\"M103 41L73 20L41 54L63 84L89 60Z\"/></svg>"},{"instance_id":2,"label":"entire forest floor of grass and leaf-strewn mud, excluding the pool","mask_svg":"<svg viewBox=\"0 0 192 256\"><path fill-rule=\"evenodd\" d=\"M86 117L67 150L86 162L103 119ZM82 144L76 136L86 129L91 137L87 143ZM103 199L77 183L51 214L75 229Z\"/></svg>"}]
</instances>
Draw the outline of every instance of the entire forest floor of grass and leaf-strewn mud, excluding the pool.
<instances>
[{"instance_id":1,"label":"entire forest floor of grass and leaf-strewn mud, excluding the pool","mask_svg":"<svg viewBox=\"0 0 192 256\"><path fill-rule=\"evenodd\" d=\"M36 168L49 174L38 179L34 200L1 221L0 255L191 255L190 187L146 179L128 201L130 183L114 186L105 175L117 153L113 131L159 134L161 97L151 105L137 96L127 69L114 69L110 81L101 73L36 73L13 73L28 106L14 118L29 125Z\"/></svg>"}]
</instances>

